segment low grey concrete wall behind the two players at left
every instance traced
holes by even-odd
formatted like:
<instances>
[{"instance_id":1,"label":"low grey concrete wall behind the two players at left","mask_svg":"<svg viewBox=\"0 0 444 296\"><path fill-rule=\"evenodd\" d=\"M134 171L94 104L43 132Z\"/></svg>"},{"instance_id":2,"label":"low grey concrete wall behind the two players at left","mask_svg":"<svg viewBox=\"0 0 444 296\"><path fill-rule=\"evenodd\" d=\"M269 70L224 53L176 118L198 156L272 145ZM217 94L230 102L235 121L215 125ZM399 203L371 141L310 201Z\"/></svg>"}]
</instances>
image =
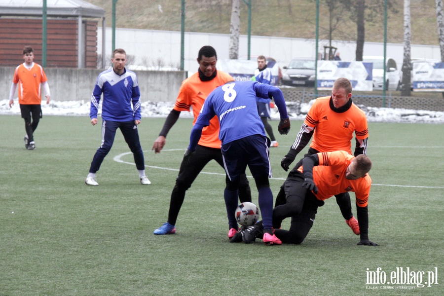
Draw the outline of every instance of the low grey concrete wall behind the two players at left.
<instances>
[{"instance_id":1,"label":"low grey concrete wall behind the two players at left","mask_svg":"<svg viewBox=\"0 0 444 296\"><path fill-rule=\"evenodd\" d=\"M0 98L8 99L14 67L0 67ZM102 70L46 68L51 100L74 101L91 100L91 94ZM179 93L183 71L135 71L139 80L142 102L171 101L174 102ZM14 99L17 98L17 91ZM18 103L18 102L16 102Z\"/></svg>"}]
</instances>

